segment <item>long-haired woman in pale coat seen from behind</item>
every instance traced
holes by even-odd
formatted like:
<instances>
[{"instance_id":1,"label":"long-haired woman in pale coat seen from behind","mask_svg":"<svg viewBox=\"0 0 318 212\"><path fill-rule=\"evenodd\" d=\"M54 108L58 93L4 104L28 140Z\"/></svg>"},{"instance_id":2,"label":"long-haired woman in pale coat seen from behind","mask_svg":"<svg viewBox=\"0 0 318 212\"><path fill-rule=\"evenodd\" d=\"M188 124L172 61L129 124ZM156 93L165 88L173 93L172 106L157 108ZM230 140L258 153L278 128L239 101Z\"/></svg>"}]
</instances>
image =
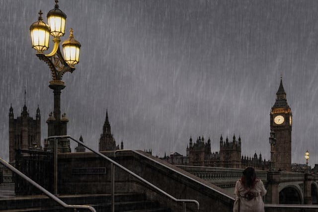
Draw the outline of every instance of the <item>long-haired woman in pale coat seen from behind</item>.
<instances>
[{"instance_id":1,"label":"long-haired woman in pale coat seen from behind","mask_svg":"<svg viewBox=\"0 0 318 212\"><path fill-rule=\"evenodd\" d=\"M256 177L255 169L247 167L235 186L233 212L264 212L263 196L266 192L263 182Z\"/></svg>"}]
</instances>

